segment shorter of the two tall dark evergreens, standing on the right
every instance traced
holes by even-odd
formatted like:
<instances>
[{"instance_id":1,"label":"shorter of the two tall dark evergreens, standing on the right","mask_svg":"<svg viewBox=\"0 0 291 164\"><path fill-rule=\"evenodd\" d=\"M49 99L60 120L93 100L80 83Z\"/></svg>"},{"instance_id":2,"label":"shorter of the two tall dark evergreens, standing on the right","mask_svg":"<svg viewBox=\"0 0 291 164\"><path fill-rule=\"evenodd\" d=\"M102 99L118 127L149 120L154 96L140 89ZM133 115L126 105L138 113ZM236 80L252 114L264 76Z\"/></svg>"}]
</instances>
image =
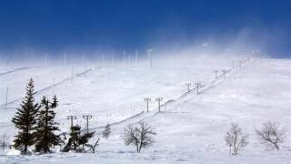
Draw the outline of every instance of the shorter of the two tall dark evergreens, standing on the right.
<instances>
[{"instance_id":1,"label":"shorter of the two tall dark evergreens, standing on the right","mask_svg":"<svg viewBox=\"0 0 291 164\"><path fill-rule=\"evenodd\" d=\"M41 153L51 152L50 148L58 145L60 138L54 134L57 128L57 123L55 122L55 111L54 108L57 107L57 99L53 98L53 103L51 103L46 97L43 97L41 101L41 109L37 114L37 130L36 130L36 143L35 151Z\"/></svg>"}]
</instances>

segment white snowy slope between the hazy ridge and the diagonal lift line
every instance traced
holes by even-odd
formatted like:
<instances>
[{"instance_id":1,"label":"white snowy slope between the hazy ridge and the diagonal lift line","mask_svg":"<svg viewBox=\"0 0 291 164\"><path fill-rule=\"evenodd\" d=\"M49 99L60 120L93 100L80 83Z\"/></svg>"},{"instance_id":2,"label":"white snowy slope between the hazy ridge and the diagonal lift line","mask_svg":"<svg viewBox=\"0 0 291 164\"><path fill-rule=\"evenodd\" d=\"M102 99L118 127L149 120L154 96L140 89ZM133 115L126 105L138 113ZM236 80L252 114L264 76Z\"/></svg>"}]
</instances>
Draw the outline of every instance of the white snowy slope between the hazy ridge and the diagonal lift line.
<instances>
[{"instance_id":1,"label":"white snowy slope between the hazy ridge and the diagonal lift line","mask_svg":"<svg viewBox=\"0 0 291 164\"><path fill-rule=\"evenodd\" d=\"M138 64L115 64L113 66L96 66L87 74L64 83L53 85L67 77L71 77L72 66L41 67L20 70L11 74L0 76L1 100L5 103L5 87L9 87L9 110L1 118L4 127L13 127L10 123L15 114L15 108L21 102L20 97L25 94L25 83L30 77L35 79L35 90L39 91L36 98L42 95L52 97L54 93L59 98L60 106L58 121L62 129L67 130L69 121L67 115L75 115L78 124L84 125L82 116L91 114L94 127L113 123L129 118L146 109L145 97L152 97L150 110L156 108L155 97L164 97L164 101L175 99L186 92L186 82L209 83L215 77L215 69L231 68L233 58L207 57L175 58L158 60L154 68L149 69L147 62ZM75 66L75 72L84 71L83 66ZM13 80L12 80L13 79ZM15 101L16 100L16 101ZM2 108L5 106L3 105ZM8 116L8 117L7 117Z\"/></svg>"}]
</instances>

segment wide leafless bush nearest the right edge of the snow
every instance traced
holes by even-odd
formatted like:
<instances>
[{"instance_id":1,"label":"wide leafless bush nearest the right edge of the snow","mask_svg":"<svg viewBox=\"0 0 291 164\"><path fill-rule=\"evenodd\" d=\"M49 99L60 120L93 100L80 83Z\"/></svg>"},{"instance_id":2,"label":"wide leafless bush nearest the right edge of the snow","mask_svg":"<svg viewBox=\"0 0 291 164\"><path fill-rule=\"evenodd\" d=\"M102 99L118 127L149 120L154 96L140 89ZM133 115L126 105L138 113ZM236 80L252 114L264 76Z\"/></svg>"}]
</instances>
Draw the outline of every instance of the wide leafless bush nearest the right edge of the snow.
<instances>
[{"instance_id":1,"label":"wide leafless bush nearest the right edge of the snow","mask_svg":"<svg viewBox=\"0 0 291 164\"><path fill-rule=\"evenodd\" d=\"M256 129L256 135L258 139L267 147L271 149L279 150L279 143L283 143L283 136L285 130L280 129L275 122L266 122L263 124L263 128Z\"/></svg>"}]
</instances>

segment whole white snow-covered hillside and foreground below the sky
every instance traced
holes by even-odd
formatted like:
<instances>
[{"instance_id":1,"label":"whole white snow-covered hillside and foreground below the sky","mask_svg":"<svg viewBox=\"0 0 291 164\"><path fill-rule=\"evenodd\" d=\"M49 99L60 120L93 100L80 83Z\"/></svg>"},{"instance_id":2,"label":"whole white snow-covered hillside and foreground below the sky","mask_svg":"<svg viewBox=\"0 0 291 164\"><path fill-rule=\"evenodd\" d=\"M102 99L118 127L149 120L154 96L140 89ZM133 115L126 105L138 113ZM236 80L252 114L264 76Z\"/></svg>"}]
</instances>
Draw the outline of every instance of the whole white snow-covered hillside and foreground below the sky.
<instances>
[{"instance_id":1,"label":"whole white snow-covered hillside and foreground below the sky","mask_svg":"<svg viewBox=\"0 0 291 164\"><path fill-rule=\"evenodd\" d=\"M235 70L226 74L225 80L220 77L211 83L215 77L214 70L232 68L234 59L209 56L175 58L157 61L153 69L149 69L146 62L111 67L90 65L92 71L37 95L51 97L55 93L59 97L57 119L64 131L69 127L66 115L77 116L75 121L82 126L85 123L82 115L93 115L90 125L99 132L102 128L98 127L106 123L118 122L144 111L144 97L164 97L164 102L173 101L166 103L162 107L163 112L157 114L156 103L152 102L151 112L113 125L112 135L108 139L101 139L97 154L3 155L0 156L0 162L291 163L290 130L286 131L280 151L267 151L254 132L255 127L259 128L267 120L275 120L282 127L290 128L290 61L253 58L243 68L236 65ZM16 85L17 94L12 97L18 98L24 94L25 78L35 77L35 88L41 90L51 85L53 77L60 80L70 77L71 68L44 67L14 72L0 76L1 88ZM202 82L205 87L199 94L194 89L182 95L186 92L186 82L192 82L193 85ZM1 94L4 97L4 92ZM10 119L17 104L18 101L9 104L10 108L6 110L1 109L0 133L6 132L11 136L15 133ZM139 120L155 127L157 135L153 147L136 154L135 148L125 147L121 136L126 125ZM231 122L238 123L249 135L249 144L238 157L228 156L224 142Z\"/></svg>"}]
</instances>

